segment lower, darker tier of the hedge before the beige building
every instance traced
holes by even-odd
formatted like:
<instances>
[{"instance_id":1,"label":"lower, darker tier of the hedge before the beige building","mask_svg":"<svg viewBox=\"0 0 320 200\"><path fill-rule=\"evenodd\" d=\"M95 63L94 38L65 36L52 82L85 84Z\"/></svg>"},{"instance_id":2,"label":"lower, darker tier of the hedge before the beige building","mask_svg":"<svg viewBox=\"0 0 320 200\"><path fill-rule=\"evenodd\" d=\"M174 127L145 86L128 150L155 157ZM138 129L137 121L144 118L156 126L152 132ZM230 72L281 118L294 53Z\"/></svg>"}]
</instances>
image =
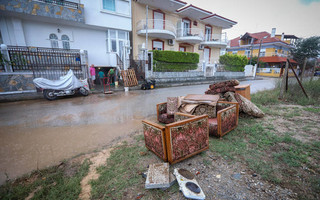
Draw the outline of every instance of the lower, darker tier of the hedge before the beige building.
<instances>
[{"instance_id":1,"label":"lower, darker tier of the hedge before the beige building","mask_svg":"<svg viewBox=\"0 0 320 200\"><path fill-rule=\"evenodd\" d=\"M198 64L194 63L167 63L161 61L153 61L154 72L186 72L196 70Z\"/></svg>"}]
</instances>

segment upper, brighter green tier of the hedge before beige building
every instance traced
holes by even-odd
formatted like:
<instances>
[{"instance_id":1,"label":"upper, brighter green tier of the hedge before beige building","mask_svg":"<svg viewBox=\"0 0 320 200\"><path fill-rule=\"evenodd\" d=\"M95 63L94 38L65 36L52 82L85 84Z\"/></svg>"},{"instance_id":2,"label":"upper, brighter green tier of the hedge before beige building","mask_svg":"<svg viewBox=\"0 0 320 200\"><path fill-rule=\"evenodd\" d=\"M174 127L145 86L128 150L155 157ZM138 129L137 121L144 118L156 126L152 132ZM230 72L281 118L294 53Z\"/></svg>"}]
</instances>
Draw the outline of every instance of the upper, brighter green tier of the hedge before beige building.
<instances>
[{"instance_id":1,"label":"upper, brighter green tier of the hedge before beige building","mask_svg":"<svg viewBox=\"0 0 320 200\"><path fill-rule=\"evenodd\" d=\"M199 54L181 51L153 50L153 60L169 63L199 63Z\"/></svg>"}]
</instances>

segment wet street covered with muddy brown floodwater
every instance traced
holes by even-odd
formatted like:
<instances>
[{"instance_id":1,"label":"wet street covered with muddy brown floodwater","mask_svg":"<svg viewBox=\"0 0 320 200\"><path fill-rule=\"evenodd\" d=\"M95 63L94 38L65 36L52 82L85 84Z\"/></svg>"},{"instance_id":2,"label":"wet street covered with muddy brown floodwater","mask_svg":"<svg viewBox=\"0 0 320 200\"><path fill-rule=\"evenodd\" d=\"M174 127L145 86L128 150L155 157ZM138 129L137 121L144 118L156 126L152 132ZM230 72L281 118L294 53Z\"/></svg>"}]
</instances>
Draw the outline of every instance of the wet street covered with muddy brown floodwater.
<instances>
[{"instance_id":1,"label":"wet street covered with muddy brown floodwater","mask_svg":"<svg viewBox=\"0 0 320 200\"><path fill-rule=\"evenodd\" d=\"M251 92L276 79L241 82ZM32 170L110 145L155 117L170 96L203 94L208 84L0 104L0 184Z\"/></svg>"}]
</instances>

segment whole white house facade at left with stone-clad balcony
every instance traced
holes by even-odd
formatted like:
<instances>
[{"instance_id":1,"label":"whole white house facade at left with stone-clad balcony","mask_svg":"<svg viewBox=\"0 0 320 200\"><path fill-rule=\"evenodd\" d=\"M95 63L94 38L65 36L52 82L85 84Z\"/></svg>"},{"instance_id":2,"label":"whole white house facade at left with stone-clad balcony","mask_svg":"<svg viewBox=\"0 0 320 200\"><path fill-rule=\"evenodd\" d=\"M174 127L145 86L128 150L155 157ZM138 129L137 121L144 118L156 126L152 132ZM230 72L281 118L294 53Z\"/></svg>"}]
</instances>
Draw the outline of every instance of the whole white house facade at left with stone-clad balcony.
<instances>
[{"instance_id":1,"label":"whole white house facade at left with stone-clad balcony","mask_svg":"<svg viewBox=\"0 0 320 200\"><path fill-rule=\"evenodd\" d=\"M0 11L3 44L82 49L96 66L129 58L130 0L3 0Z\"/></svg>"}]
</instances>

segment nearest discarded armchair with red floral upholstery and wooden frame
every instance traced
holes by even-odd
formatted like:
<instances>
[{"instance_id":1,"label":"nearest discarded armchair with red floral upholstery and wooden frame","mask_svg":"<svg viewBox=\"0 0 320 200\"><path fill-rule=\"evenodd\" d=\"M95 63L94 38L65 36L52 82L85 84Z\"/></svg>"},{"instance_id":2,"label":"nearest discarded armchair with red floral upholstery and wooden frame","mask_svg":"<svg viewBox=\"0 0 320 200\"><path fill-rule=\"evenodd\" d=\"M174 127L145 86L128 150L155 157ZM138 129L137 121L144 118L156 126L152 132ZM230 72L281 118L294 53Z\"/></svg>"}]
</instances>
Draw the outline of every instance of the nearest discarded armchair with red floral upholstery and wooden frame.
<instances>
[{"instance_id":1,"label":"nearest discarded armchair with red floral upholstery and wooden frame","mask_svg":"<svg viewBox=\"0 0 320 200\"><path fill-rule=\"evenodd\" d=\"M175 113L171 123L143 120L146 147L174 164L209 148L208 115Z\"/></svg>"}]
</instances>

